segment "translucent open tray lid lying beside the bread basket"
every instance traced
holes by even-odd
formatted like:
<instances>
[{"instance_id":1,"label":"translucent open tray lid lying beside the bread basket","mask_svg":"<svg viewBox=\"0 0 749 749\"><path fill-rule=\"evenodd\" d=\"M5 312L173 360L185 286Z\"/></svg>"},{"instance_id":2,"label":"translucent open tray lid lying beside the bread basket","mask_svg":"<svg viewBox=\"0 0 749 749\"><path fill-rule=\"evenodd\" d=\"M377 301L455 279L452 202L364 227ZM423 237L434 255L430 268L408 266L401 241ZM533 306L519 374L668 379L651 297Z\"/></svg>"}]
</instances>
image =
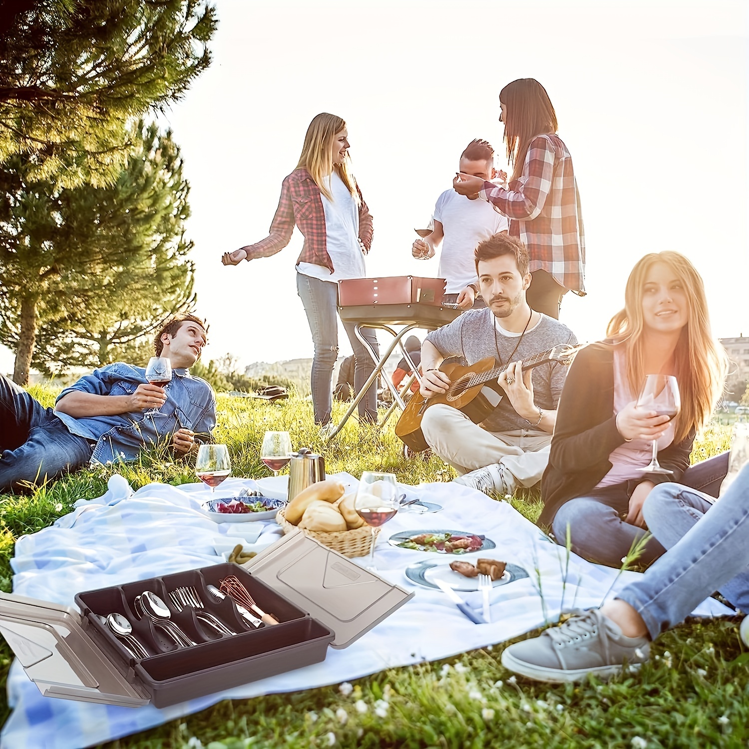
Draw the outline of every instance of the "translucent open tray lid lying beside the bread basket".
<instances>
[{"instance_id":1,"label":"translucent open tray lid lying beside the bread basket","mask_svg":"<svg viewBox=\"0 0 749 749\"><path fill-rule=\"evenodd\" d=\"M299 530L243 567L332 629L334 648L348 647L413 598Z\"/></svg>"}]
</instances>

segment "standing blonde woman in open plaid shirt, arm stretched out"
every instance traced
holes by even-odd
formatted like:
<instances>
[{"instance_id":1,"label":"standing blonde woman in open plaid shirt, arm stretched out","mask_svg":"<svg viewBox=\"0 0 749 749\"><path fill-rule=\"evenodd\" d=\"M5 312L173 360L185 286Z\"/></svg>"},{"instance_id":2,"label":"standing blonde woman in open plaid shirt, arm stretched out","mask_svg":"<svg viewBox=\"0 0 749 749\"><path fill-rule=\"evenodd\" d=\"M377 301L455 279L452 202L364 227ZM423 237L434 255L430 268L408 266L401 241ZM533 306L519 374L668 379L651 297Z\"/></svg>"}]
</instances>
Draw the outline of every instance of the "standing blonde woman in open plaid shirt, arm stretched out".
<instances>
[{"instance_id":1,"label":"standing blonde woman in open plaid shirt, arm stretched out","mask_svg":"<svg viewBox=\"0 0 749 749\"><path fill-rule=\"evenodd\" d=\"M366 275L364 256L372 244L372 216L349 169L348 148L345 121L327 112L317 115L307 128L297 169L281 186L270 234L222 257L224 265L266 258L288 245L294 225L304 235L297 292L315 343L312 405L319 425L330 422L330 382L338 357L338 282ZM344 328L354 349L354 386L359 392L375 364L354 334L354 324L344 323ZM378 353L375 332L363 335ZM359 416L365 422L377 420L375 387L360 401Z\"/></svg>"}]
</instances>

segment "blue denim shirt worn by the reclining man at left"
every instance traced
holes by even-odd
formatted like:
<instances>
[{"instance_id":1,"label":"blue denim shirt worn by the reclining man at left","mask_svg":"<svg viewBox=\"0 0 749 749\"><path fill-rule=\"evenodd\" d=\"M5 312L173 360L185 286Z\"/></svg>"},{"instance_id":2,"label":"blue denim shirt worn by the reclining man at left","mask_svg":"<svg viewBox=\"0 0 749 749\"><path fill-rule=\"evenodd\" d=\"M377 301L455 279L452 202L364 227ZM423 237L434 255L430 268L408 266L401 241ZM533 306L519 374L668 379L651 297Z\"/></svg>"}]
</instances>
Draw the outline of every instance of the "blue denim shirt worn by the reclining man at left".
<instances>
[{"instance_id":1,"label":"blue denim shirt worn by the reclining man at left","mask_svg":"<svg viewBox=\"0 0 749 749\"><path fill-rule=\"evenodd\" d=\"M75 384L65 388L94 395L131 395L141 383L146 383L145 369L117 362L94 369ZM184 427L206 440L216 425L216 396L213 389L200 377L192 377L187 369L173 369L172 381L166 385L166 403L157 413L120 413L116 416L86 416L76 419L55 411L67 428L96 443L91 463L130 461L142 449L155 446Z\"/></svg>"}]
</instances>

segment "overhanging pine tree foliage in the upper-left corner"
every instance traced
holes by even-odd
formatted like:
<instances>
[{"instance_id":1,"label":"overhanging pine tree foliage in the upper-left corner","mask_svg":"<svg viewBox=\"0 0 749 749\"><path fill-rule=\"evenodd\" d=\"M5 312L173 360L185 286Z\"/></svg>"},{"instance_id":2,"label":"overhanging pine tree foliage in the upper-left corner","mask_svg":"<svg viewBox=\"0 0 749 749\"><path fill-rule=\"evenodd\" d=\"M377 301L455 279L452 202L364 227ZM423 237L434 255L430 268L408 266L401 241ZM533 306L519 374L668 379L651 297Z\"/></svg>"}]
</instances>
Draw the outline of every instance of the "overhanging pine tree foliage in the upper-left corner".
<instances>
[{"instance_id":1,"label":"overhanging pine tree foliage in the upper-left corner","mask_svg":"<svg viewBox=\"0 0 749 749\"><path fill-rule=\"evenodd\" d=\"M106 184L126 125L210 64L204 0L0 0L0 161L32 181Z\"/></svg>"}]
</instances>

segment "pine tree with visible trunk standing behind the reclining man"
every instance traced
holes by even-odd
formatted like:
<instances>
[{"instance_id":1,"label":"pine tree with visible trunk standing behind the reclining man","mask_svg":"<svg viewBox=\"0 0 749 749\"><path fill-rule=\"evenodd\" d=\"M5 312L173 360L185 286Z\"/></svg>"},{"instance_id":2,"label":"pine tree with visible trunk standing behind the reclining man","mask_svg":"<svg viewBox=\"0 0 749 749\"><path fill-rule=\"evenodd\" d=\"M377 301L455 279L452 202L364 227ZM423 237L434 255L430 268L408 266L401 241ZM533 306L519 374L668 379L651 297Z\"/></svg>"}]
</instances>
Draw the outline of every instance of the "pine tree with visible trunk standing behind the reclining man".
<instances>
[{"instance_id":1,"label":"pine tree with visible trunk standing behind the reclining man","mask_svg":"<svg viewBox=\"0 0 749 749\"><path fill-rule=\"evenodd\" d=\"M108 363L194 304L179 148L142 121L127 135L133 148L110 187L0 173L0 342L16 349L17 383L31 365Z\"/></svg>"}]
</instances>

